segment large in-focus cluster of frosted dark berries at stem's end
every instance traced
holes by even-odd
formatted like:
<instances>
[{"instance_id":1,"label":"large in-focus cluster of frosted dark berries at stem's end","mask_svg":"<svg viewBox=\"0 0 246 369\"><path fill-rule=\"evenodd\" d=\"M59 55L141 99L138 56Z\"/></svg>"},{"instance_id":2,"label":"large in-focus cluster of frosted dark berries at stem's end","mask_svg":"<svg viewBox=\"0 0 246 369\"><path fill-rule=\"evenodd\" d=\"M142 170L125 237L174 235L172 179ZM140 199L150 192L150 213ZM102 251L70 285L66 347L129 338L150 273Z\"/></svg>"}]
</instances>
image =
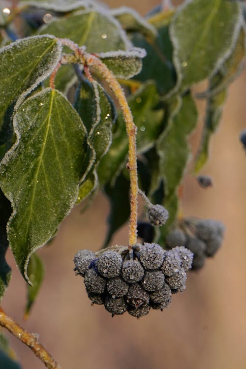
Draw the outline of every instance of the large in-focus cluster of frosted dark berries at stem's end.
<instances>
[{"instance_id":1,"label":"large in-focus cluster of frosted dark berries at stem's end","mask_svg":"<svg viewBox=\"0 0 246 369\"><path fill-rule=\"evenodd\" d=\"M145 243L95 253L80 250L74 257L74 270L84 277L92 304L104 305L112 316L127 311L139 318L150 308L163 310L172 293L185 289L192 259L192 252L185 247L165 251L157 244Z\"/></svg>"}]
</instances>

